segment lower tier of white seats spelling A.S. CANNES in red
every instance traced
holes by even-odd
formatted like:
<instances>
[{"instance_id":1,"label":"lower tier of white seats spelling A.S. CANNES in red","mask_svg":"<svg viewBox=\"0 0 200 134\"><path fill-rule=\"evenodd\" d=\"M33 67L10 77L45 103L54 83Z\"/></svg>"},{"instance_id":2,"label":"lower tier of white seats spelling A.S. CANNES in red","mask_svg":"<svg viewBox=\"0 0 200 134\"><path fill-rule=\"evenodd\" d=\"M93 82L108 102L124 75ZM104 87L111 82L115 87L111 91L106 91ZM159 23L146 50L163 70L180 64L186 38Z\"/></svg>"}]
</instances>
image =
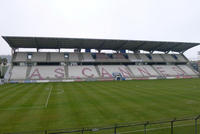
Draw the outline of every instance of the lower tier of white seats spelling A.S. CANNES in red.
<instances>
[{"instance_id":1,"label":"lower tier of white seats spelling A.S. CANNES in red","mask_svg":"<svg viewBox=\"0 0 200 134\"><path fill-rule=\"evenodd\" d=\"M85 65L85 66L13 66L11 80L48 80L78 78L113 78L120 74L124 78L197 76L187 65ZM68 70L68 71L66 71Z\"/></svg>"}]
</instances>

